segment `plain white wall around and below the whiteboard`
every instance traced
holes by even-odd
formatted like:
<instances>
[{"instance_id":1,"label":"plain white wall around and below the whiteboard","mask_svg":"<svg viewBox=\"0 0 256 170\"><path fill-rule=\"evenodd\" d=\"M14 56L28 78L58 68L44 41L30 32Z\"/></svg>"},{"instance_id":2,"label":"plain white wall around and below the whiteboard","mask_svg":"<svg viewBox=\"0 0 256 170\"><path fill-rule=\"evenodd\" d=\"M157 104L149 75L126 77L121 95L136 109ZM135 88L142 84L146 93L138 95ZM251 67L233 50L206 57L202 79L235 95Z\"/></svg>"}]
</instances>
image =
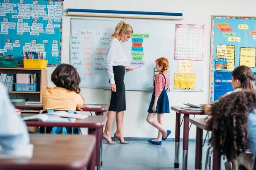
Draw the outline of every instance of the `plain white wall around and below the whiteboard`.
<instances>
[{"instance_id":1,"label":"plain white wall around and below the whiteboard","mask_svg":"<svg viewBox=\"0 0 256 170\"><path fill-rule=\"evenodd\" d=\"M234 16L255 16L254 0L65 0L66 8L81 9L105 9L121 11L155 11L155 12L179 12L183 13L184 20L169 21L172 23L206 24L204 43L204 92L169 92L170 106L180 106L183 102L195 104L207 103L209 97L209 54L210 54L210 24L211 15L234 15ZM70 47L70 18L65 16L63 20L62 32L62 63L69 63ZM74 17L73 17L74 18ZM166 33L168 34L168 33ZM47 68L49 86L54 86L50 82L50 75L54 68ZM108 104L111 97L110 91L103 89L82 88L81 93L86 103ZM155 137L157 130L146 122L147 109L151 99L151 92L126 91L126 108L123 123L123 133L125 137ZM200 117L200 116L196 116ZM164 125L172 130L170 138L175 138L175 112L171 111L165 115ZM116 123L113 123L112 136L116 130ZM181 138L183 136L183 126L180 129ZM189 138L195 138L195 126L192 125Z\"/></svg>"}]
</instances>

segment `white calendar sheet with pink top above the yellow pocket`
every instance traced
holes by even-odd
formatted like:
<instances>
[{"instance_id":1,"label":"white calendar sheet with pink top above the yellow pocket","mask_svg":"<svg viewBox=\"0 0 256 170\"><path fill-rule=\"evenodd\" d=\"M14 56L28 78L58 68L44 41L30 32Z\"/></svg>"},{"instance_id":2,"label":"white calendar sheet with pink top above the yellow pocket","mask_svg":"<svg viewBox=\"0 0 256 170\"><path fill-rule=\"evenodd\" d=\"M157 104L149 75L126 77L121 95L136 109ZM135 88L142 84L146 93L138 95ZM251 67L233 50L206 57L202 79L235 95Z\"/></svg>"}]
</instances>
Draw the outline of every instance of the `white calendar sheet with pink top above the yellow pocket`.
<instances>
[{"instance_id":1,"label":"white calendar sheet with pink top above the yellow pocket","mask_svg":"<svg viewBox=\"0 0 256 170\"><path fill-rule=\"evenodd\" d=\"M174 59L203 60L204 25L176 24Z\"/></svg>"}]
</instances>

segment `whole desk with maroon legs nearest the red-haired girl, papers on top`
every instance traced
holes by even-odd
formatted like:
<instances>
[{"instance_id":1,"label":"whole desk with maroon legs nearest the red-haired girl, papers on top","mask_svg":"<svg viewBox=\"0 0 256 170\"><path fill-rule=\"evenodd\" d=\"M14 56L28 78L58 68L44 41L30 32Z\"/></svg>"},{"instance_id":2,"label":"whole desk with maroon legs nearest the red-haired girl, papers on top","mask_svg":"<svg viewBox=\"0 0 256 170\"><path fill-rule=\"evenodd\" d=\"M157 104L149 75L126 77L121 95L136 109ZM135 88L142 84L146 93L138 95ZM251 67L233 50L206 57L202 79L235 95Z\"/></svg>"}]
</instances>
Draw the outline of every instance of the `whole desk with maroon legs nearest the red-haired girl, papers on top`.
<instances>
[{"instance_id":1,"label":"whole desk with maroon legs nearest the red-haired girl, papers on top","mask_svg":"<svg viewBox=\"0 0 256 170\"><path fill-rule=\"evenodd\" d=\"M204 111L192 111L181 109L185 107L173 106L171 109L176 112L176 125L175 125L175 160L174 167L180 167L180 114L184 114L184 124L183 124L183 160L182 160L182 170L187 170L188 168L188 155L189 150L189 115L190 114L204 114Z\"/></svg>"}]
</instances>

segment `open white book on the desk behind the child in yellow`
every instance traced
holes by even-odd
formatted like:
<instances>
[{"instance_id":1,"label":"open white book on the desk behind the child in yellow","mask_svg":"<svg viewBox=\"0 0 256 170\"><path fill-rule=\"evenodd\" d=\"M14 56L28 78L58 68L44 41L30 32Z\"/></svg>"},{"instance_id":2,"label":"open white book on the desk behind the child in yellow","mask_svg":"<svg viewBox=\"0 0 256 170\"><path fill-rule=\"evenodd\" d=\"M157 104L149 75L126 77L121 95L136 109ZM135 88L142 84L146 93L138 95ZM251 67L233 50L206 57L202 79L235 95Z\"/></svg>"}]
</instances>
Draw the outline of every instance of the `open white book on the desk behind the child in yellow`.
<instances>
[{"instance_id":1,"label":"open white book on the desk behind the child in yellow","mask_svg":"<svg viewBox=\"0 0 256 170\"><path fill-rule=\"evenodd\" d=\"M87 117L88 115L72 114L72 113L67 113L66 111L55 111L52 113L27 116L27 117L23 117L22 119L24 121L40 120L42 122L75 122L76 119L85 119Z\"/></svg>"}]
</instances>

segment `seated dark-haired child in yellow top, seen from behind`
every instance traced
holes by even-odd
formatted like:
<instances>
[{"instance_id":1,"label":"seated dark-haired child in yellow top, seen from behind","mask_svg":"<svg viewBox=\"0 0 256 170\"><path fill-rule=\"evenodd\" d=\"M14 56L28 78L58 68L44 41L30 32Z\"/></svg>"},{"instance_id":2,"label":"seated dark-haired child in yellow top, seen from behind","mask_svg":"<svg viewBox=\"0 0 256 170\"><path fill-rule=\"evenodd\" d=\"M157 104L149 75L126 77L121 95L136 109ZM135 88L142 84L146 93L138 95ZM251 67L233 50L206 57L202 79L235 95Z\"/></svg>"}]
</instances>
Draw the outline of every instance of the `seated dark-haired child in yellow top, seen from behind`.
<instances>
[{"instance_id":1,"label":"seated dark-haired child in yellow top, seen from behind","mask_svg":"<svg viewBox=\"0 0 256 170\"><path fill-rule=\"evenodd\" d=\"M52 73L52 82L56 85L53 89L45 89L42 94L42 104L44 112L67 111L75 113L76 109L87 108L84 105L84 97L80 93L79 84L81 79L76 68L69 64L61 64ZM67 131L66 131L67 130ZM47 128L47 133L70 133L71 128ZM44 128L40 129L44 132ZM79 133L79 129L74 128L74 133Z\"/></svg>"}]
</instances>

